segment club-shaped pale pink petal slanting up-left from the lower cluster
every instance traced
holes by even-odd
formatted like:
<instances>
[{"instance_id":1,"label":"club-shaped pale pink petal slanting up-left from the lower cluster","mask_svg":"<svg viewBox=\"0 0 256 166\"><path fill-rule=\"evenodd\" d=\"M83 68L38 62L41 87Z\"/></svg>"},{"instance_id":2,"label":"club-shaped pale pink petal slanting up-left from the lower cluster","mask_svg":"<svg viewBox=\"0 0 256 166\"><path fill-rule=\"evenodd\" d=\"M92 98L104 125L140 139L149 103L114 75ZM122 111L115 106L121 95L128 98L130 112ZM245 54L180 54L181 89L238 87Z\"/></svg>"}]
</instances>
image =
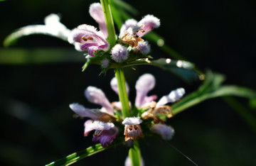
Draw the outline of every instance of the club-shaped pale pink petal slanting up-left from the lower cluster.
<instances>
[{"instance_id":1,"label":"club-shaped pale pink petal slanting up-left from the lower cluster","mask_svg":"<svg viewBox=\"0 0 256 166\"><path fill-rule=\"evenodd\" d=\"M108 113L114 114L114 110L110 104L110 101L108 101L107 97L101 89L92 86L87 87L87 89L85 89L85 97L88 99L88 101L103 106Z\"/></svg>"}]
</instances>

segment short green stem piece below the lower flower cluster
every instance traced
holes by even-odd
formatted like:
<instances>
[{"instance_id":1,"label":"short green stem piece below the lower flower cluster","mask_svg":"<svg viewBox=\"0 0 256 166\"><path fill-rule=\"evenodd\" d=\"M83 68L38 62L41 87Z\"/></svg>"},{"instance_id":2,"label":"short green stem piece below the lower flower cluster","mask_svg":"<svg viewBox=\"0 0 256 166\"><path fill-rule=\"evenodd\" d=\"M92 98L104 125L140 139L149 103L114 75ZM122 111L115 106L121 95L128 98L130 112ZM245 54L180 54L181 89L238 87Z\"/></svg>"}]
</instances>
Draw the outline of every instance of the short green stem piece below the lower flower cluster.
<instances>
[{"instance_id":1,"label":"short green stem piece below the lower flower cluster","mask_svg":"<svg viewBox=\"0 0 256 166\"><path fill-rule=\"evenodd\" d=\"M140 166L141 165L141 153L139 150L139 142L134 140L134 146L129 149L129 157L132 160L132 166Z\"/></svg>"}]
</instances>

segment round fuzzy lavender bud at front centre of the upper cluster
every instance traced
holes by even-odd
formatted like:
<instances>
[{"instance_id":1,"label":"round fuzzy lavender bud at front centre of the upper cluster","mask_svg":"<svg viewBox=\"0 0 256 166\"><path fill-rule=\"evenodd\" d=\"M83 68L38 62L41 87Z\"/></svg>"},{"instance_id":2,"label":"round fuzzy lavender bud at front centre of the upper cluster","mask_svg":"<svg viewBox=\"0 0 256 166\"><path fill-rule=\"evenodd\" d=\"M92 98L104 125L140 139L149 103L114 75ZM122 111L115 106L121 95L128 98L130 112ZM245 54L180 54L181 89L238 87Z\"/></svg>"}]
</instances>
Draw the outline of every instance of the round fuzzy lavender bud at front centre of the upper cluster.
<instances>
[{"instance_id":1,"label":"round fuzzy lavender bud at front centre of the upper cluster","mask_svg":"<svg viewBox=\"0 0 256 166\"><path fill-rule=\"evenodd\" d=\"M120 44L114 45L111 54L111 58L115 62L124 62L124 60L127 60L128 58L127 48Z\"/></svg>"}]
</instances>

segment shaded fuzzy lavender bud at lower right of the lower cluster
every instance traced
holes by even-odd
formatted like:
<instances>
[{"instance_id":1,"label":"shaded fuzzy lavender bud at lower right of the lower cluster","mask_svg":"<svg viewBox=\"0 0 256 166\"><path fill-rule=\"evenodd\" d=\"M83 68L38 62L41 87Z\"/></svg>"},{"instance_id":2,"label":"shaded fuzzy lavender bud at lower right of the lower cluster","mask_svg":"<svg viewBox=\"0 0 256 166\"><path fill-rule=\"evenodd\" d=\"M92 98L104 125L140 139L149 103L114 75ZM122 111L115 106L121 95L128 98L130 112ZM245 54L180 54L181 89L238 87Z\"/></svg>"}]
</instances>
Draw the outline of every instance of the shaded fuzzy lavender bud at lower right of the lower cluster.
<instances>
[{"instance_id":1,"label":"shaded fuzzy lavender bud at lower right of the lower cluster","mask_svg":"<svg viewBox=\"0 0 256 166\"><path fill-rule=\"evenodd\" d=\"M164 124L155 124L150 128L153 133L159 134L164 140L171 140L174 136L174 128Z\"/></svg>"}]
</instances>

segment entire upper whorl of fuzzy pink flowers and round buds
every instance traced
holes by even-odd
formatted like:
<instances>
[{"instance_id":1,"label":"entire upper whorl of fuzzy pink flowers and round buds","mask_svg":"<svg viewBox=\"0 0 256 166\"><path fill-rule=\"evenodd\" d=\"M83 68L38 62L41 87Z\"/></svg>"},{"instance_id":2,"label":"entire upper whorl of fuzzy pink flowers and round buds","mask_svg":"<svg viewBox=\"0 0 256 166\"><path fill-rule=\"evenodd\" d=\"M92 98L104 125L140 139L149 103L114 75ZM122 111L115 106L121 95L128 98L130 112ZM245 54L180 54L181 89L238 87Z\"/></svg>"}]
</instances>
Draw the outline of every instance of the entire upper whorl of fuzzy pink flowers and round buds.
<instances>
[{"instance_id":1,"label":"entire upper whorl of fuzzy pink flowers and round buds","mask_svg":"<svg viewBox=\"0 0 256 166\"><path fill-rule=\"evenodd\" d=\"M107 42L108 33L101 4L91 4L89 13L99 24L100 31L94 26L82 24L71 31L68 41L74 44L77 50L87 50L89 55L95 56L98 50L108 52L110 44ZM159 26L159 18L151 15L144 16L139 22L134 19L127 20L120 29L119 43L111 48L110 56L101 61L102 67L109 67L110 62L125 62L130 52L147 55L150 45L142 36Z\"/></svg>"}]
</instances>

